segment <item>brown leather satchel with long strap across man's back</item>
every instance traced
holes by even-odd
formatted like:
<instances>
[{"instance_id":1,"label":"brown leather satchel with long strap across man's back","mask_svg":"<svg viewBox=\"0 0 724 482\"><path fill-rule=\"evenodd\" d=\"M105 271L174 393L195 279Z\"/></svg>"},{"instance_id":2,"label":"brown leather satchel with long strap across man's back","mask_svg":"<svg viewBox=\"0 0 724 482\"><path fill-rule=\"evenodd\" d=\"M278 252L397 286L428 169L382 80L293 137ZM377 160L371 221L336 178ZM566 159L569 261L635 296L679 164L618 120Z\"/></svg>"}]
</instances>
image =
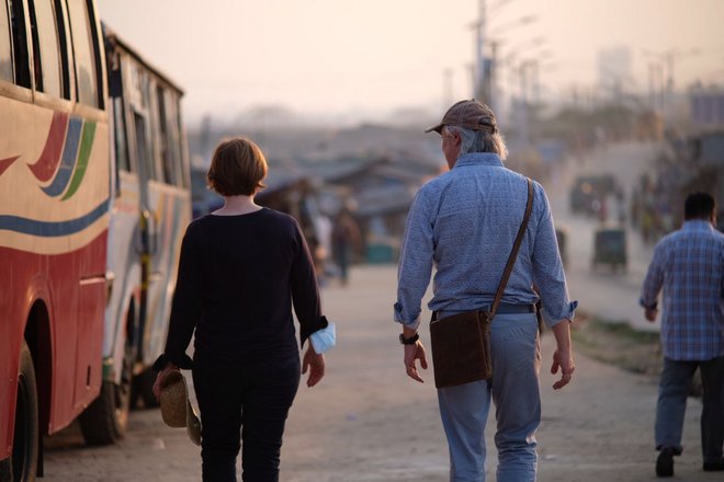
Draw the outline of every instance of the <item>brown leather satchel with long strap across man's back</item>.
<instances>
[{"instance_id":1,"label":"brown leather satchel with long strap across man's back","mask_svg":"<svg viewBox=\"0 0 724 482\"><path fill-rule=\"evenodd\" d=\"M498 309L502 291L512 272L518 250L523 239L533 208L533 182L528 180L525 215L518 229L508 264L502 273L493 305L488 310L465 311L430 322L432 365L437 388L454 387L493 377L490 357L490 323Z\"/></svg>"}]
</instances>

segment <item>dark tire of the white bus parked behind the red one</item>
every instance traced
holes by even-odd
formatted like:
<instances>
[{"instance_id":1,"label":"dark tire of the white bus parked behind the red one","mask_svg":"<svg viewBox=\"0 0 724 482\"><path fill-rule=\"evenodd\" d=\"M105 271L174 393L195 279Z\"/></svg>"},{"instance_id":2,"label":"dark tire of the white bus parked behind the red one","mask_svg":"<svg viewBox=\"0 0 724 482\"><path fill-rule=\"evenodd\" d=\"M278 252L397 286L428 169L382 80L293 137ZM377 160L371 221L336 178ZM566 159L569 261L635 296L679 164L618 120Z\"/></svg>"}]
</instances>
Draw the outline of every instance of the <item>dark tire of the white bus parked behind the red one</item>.
<instances>
[{"instance_id":1,"label":"dark tire of the white bus parked behind the red one","mask_svg":"<svg viewBox=\"0 0 724 482\"><path fill-rule=\"evenodd\" d=\"M88 445L110 445L121 440L128 426L133 356L126 346L121 383L103 380L101 394L80 414L80 431Z\"/></svg>"}]
</instances>

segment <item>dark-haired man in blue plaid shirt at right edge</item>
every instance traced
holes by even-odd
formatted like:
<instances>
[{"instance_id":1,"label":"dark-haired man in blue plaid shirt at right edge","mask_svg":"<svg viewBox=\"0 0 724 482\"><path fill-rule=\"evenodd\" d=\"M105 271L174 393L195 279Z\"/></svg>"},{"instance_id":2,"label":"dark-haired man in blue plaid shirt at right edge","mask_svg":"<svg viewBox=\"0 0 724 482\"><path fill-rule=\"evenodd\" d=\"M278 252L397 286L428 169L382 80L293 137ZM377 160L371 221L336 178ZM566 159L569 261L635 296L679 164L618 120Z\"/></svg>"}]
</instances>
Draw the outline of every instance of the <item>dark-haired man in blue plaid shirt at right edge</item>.
<instances>
[{"instance_id":1,"label":"dark-haired man in blue plaid shirt at right edge","mask_svg":"<svg viewBox=\"0 0 724 482\"><path fill-rule=\"evenodd\" d=\"M724 470L724 234L714 229L714 198L695 193L685 203L680 230L661 239L644 280L641 305L655 321L664 290L664 370L656 404L656 473L674 475L681 455L681 431L691 379L703 385L701 440L703 469Z\"/></svg>"}]
</instances>

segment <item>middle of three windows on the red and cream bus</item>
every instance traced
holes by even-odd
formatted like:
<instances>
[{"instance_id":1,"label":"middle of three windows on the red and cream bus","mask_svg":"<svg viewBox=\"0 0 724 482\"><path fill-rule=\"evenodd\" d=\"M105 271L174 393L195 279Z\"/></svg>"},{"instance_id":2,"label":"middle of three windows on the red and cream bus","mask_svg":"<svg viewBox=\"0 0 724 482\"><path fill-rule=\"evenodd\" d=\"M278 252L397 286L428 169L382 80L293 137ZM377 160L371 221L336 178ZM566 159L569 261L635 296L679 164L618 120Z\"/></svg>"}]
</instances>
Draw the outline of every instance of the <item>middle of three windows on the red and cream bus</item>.
<instances>
[{"instance_id":1,"label":"middle of three windows on the red and cream bus","mask_svg":"<svg viewBox=\"0 0 724 482\"><path fill-rule=\"evenodd\" d=\"M35 89L60 96L60 46L55 2L52 0L30 2L33 55L35 58Z\"/></svg>"}]
</instances>

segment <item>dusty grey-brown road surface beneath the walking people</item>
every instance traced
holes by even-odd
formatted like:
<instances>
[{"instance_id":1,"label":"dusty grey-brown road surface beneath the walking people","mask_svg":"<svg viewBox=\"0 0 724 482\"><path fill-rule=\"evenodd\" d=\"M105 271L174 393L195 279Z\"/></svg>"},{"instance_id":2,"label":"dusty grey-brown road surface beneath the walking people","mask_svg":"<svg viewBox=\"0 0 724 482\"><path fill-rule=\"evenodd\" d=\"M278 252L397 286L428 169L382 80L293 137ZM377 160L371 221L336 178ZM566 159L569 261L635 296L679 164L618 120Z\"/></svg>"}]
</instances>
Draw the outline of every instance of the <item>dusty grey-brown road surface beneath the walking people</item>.
<instances>
[{"instance_id":1,"label":"dusty grey-brown road surface beneath the walking people","mask_svg":"<svg viewBox=\"0 0 724 482\"><path fill-rule=\"evenodd\" d=\"M587 294L572 286L586 306ZM444 481L448 450L437 411L432 374L419 385L405 376L398 328L392 323L395 267L352 271L347 288L323 291L337 323L338 346L327 356L319 387L301 387L282 451L285 482ZM426 314L427 315L427 314ZM429 346L427 332L422 340ZM653 448L656 387L649 379L577 355L573 383L551 389L552 336L543 336L543 423L539 480L546 482L655 480ZM701 470L701 405L689 401L685 454L674 481L719 481ZM488 426L488 480L495 480L494 427ZM47 482L200 480L200 450L183 429L162 425L158 411L134 412L117 446L88 448L75 426L48 440Z\"/></svg>"}]
</instances>

